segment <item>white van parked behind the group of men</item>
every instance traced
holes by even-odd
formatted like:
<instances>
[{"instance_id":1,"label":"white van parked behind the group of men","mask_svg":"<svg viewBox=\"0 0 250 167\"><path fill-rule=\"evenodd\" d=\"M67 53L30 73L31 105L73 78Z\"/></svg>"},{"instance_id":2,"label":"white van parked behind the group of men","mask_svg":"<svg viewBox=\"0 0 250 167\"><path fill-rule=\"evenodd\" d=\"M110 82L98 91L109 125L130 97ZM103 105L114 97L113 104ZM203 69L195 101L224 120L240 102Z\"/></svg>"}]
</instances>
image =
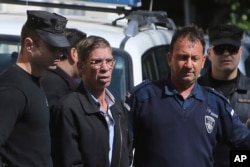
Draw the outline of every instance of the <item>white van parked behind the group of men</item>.
<instances>
[{"instance_id":1,"label":"white van parked behind the group of men","mask_svg":"<svg viewBox=\"0 0 250 167\"><path fill-rule=\"evenodd\" d=\"M68 19L67 27L78 28L87 35L102 36L110 42L116 59L110 89L116 97L124 100L127 90L134 85L168 73L166 53L175 25L166 12L132 10L126 17L112 20L64 16ZM0 13L0 71L16 60L26 17L26 11Z\"/></svg>"}]
</instances>

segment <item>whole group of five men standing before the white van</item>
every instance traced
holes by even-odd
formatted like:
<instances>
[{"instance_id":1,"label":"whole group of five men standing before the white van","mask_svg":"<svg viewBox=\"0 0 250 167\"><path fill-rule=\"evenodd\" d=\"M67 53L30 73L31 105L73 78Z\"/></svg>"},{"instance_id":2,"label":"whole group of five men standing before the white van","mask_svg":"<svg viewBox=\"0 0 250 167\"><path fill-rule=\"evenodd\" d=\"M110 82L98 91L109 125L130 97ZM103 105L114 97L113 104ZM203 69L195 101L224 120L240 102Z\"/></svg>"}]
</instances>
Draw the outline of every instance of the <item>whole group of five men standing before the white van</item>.
<instances>
[{"instance_id":1,"label":"whole group of five men standing before the white van","mask_svg":"<svg viewBox=\"0 0 250 167\"><path fill-rule=\"evenodd\" d=\"M107 88L109 41L67 21L27 11L18 59L0 74L0 167L229 167L230 150L249 151L243 30L209 28L205 50L198 26L177 28L168 76L134 86L124 104Z\"/></svg>"}]
</instances>

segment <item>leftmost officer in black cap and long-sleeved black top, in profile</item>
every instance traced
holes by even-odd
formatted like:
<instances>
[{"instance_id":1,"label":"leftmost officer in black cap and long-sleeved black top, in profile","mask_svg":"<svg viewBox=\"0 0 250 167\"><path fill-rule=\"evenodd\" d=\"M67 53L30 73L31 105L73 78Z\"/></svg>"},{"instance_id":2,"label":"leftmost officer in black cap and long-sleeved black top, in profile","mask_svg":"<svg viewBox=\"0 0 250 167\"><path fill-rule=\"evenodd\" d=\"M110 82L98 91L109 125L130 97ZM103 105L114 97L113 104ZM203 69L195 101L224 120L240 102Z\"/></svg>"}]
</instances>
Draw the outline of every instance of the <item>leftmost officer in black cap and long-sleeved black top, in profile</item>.
<instances>
[{"instance_id":1,"label":"leftmost officer in black cap and long-sleeved black top, in profile","mask_svg":"<svg viewBox=\"0 0 250 167\"><path fill-rule=\"evenodd\" d=\"M67 19L27 11L17 62L0 76L0 166L51 167L49 108L39 78L69 42Z\"/></svg>"}]
</instances>

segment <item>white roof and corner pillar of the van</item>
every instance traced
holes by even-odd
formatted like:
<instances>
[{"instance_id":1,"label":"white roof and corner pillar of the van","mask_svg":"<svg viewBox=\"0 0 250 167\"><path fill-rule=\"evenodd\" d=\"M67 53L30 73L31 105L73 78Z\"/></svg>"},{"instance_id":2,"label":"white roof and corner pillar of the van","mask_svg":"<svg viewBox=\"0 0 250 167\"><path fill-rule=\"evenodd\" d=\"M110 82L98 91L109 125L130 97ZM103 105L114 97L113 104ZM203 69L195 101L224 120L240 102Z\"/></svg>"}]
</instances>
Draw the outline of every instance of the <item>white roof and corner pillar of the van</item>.
<instances>
[{"instance_id":1,"label":"white roof and corner pillar of the van","mask_svg":"<svg viewBox=\"0 0 250 167\"><path fill-rule=\"evenodd\" d=\"M132 60L134 69L134 84L142 81L142 55L149 49L165 46L170 43L174 30L166 27L153 27L147 25L143 27L140 33L126 36L124 31L127 26L127 19L119 20L116 25L112 24L113 20L102 20L89 16L69 16L67 27L78 28L87 33L87 35L98 35L107 39L113 48L120 48L127 52ZM1 34L20 35L21 28L26 21L26 13L0 13L0 32ZM151 26L151 27L150 27Z\"/></svg>"}]
</instances>

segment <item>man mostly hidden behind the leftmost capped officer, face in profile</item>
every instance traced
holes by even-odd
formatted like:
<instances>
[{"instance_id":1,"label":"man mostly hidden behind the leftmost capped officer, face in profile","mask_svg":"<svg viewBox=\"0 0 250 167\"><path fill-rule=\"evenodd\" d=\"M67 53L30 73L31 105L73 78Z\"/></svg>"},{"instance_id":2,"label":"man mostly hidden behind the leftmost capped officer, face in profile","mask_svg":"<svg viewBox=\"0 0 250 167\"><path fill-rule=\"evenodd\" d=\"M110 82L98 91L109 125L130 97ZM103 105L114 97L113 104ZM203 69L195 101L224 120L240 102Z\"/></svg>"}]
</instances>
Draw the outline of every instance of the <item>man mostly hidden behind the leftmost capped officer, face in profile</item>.
<instances>
[{"instance_id":1,"label":"man mostly hidden behind the leftmost capped officer, face in profile","mask_svg":"<svg viewBox=\"0 0 250 167\"><path fill-rule=\"evenodd\" d=\"M65 49L57 67L46 70L40 80L50 108L62 96L76 90L79 84L77 80L80 77L77 69L78 54L76 45L80 40L85 39L87 34L75 28L66 28L65 35L70 47Z\"/></svg>"}]
</instances>

